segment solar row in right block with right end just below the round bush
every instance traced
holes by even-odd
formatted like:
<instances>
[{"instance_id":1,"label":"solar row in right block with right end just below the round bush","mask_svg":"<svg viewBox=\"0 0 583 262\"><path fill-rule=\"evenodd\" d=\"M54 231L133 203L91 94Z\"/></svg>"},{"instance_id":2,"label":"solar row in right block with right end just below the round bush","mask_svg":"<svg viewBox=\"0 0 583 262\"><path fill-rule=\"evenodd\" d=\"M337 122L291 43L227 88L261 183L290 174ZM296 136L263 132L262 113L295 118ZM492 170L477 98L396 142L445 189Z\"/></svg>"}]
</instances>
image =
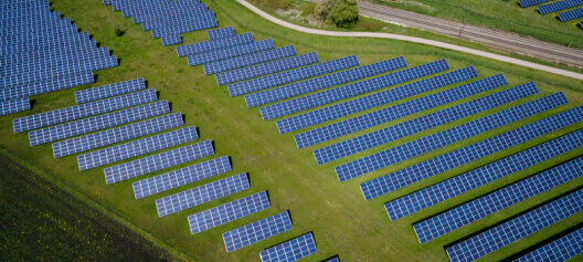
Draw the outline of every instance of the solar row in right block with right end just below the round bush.
<instances>
[{"instance_id":1,"label":"solar row in right block with right end just below the round bush","mask_svg":"<svg viewBox=\"0 0 583 262\"><path fill-rule=\"evenodd\" d=\"M339 70L346 70L357 65L359 65L357 56L350 55L338 60L332 60L315 65L308 65L305 67L282 72L278 74L267 75L259 78L232 84L227 86L229 94L231 94L231 96L247 94L255 91L288 84L292 82L306 80L309 77L331 73Z\"/></svg>"}]
</instances>

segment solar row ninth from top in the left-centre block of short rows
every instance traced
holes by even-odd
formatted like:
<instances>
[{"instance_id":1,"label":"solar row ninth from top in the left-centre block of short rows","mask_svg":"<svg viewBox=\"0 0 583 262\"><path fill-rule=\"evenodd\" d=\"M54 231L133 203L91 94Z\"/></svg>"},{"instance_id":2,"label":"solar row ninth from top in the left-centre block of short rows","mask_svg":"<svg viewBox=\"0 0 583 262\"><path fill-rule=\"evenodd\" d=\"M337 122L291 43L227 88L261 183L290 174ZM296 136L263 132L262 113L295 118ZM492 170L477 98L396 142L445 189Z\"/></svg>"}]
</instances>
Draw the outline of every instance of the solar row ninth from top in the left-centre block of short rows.
<instances>
[{"instance_id":1,"label":"solar row ninth from top in the left-centre block of short rows","mask_svg":"<svg viewBox=\"0 0 583 262\"><path fill-rule=\"evenodd\" d=\"M266 191L240 198L235 201L189 216L190 232L195 234L216 228L221 224L268 209L269 207L269 198L267 198Z\"/></svg>"}]
</instances>

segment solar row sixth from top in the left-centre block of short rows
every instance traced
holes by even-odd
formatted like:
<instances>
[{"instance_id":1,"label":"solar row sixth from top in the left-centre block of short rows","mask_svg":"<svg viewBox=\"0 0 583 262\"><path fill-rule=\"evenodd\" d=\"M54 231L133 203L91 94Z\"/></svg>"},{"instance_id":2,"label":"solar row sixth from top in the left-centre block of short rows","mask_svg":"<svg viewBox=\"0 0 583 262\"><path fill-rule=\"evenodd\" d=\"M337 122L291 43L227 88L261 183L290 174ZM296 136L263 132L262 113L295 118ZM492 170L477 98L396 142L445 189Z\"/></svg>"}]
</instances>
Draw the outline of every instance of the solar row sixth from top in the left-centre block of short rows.
<instances>
[{"instance_id":1,"label":"solar row sixth from top in the left-centre block of short rows","mask_svg":"<svg viewBox=\"0 0 583 262\"><path fill-rule=\"evenodd\" d=\"M211 140L179 147L169 151L162 151L152 156L105 168L105 181L107 184L118 182L213 154L214 149Z\"/></svg>"}]
</instances>

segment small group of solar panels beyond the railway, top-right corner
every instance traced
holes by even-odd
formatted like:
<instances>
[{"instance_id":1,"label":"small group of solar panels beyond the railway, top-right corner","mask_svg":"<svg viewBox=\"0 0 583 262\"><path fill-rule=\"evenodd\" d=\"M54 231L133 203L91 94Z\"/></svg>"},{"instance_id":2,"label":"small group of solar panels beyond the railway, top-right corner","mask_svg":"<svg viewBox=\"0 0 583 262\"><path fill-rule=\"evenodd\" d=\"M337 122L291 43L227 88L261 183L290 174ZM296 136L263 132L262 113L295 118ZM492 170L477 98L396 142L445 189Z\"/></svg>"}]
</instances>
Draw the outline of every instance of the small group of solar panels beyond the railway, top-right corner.
<instances>
[{"instance_id":1,"label":"small group of solar panels beyond the railway, top-right corner","mask_svg":"<svg viewBox=\"0 0 583 262\"><path fill-rule=\"evenodd\" d=\"M551 1L553 0L519 0L518 2L520 7L522 8L541 4L537 8L537 11L539 11L541 14L559 12L558 17L559 17L559 20L561 20L561 22L566 22L566 21L583 18L583 7L580 7L580 6L583 6L583 0L560 0L560 1L554 1L554 2L551 2ZM551 2L551 3L547 3L547 2ZM580 7L580 8L576 8L576 7ZM572 8L576 8L576 9L572 9ZM572 10L563 11L566 9L572 9Z\"/></svg>"}]
</instances>

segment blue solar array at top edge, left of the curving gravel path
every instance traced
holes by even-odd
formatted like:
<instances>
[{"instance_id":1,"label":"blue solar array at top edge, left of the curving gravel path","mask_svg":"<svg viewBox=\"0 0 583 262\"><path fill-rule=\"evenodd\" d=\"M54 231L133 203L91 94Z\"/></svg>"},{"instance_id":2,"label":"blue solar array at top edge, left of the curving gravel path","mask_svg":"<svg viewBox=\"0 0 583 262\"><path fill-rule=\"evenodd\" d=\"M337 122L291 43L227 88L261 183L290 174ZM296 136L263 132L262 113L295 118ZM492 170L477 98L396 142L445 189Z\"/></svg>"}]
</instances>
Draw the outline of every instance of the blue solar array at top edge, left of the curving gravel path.
<instances>
[{"instance_id":1,"label":"blue solar array at top edge, left of the curving gravel path","mask_svg":"<svg viewBox=\"0 0 583 262\"><path fill-rule=\"evenodd\" d=\"M198 0L104 0L114 11L141 23L144 31L162 40L162 45L182 43L181 33L216 28L213 11Z\"/></svg>"}]
</instances>

